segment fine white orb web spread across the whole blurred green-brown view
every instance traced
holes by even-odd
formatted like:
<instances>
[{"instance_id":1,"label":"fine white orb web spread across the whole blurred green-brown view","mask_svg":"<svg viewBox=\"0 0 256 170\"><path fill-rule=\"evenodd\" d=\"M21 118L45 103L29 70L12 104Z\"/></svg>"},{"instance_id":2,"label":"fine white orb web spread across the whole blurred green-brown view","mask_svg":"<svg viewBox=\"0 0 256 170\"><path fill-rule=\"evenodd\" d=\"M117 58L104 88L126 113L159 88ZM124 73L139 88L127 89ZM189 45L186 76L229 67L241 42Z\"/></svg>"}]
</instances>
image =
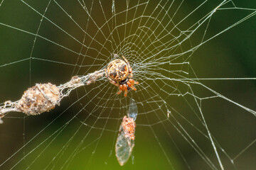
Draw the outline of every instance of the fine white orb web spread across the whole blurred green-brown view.
<instances>
[{"instance_id":1,"label":"fine white orb web spread across the whole blurred green-brown view","mask_svg":"<svg viewBox=\"0 0 256 170\"><path fill-rule=\"evenodd\" d=\"M119 169L114 144L138 106L124 169L255 169L254 1L0 1L1 101L64 84L122 55L137 91L105 77L49 113L9 113L1 169Z\"/></svg>"}]
</instances>

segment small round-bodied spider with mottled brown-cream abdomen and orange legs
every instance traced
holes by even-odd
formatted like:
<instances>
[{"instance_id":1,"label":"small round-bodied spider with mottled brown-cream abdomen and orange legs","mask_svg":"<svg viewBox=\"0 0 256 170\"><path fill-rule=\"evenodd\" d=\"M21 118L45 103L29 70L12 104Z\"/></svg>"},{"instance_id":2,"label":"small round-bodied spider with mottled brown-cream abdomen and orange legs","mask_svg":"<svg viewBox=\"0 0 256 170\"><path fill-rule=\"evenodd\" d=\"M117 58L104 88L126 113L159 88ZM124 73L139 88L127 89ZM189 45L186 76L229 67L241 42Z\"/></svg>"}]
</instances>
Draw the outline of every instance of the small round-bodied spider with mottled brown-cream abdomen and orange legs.
<instances>
[{"instance_id":1,"label":"small round-bodied spider with mottled brown-cream abdomen and orange legs","mask_svg":"<svg viewBox=\"0 0 256 170\"><path fill-rule=\"evenodd\" d=\"M106 72L107 79L110 80L110 83L119 87L117 94L121 94L124 91L124 96L127 96L129 90L136 91L134 84L139 84L138 81L132 79L132 67L130 67L129 62L124 56L124 60L113 60L108 64ZM125 62L124 62L125 61Z\"/></svg>"}]
</instances>

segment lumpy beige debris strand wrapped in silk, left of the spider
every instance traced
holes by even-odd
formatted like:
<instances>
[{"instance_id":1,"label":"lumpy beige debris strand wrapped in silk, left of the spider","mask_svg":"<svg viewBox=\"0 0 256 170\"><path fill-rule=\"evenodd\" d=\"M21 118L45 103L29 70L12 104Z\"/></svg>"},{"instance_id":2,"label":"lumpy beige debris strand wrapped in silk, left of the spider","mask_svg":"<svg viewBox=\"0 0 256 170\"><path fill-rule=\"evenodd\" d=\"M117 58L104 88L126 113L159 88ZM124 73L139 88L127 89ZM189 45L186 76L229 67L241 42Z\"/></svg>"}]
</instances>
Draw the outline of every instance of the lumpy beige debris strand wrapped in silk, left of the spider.
<instances>
[{"instance_id":1,"label":"lumpy beige debris strand wrapped in silk, left of the spider","mask_svg":"<svg viewBox=\"0 0 256 170\"><path fill-rule=\"evenodd\" d=\"M73 89L80 86L90 85L98 78L103 77L104 69L86 76L74 76L65 84L56 86L55 84L36 84L24 91L23 96L18 101L6 101L0 106L0 124L3 123L1 118L9 112L22 112L26 115L39 115L48 112L60 105L60 101L68 96Z\"/></svg>"}]
</instances>

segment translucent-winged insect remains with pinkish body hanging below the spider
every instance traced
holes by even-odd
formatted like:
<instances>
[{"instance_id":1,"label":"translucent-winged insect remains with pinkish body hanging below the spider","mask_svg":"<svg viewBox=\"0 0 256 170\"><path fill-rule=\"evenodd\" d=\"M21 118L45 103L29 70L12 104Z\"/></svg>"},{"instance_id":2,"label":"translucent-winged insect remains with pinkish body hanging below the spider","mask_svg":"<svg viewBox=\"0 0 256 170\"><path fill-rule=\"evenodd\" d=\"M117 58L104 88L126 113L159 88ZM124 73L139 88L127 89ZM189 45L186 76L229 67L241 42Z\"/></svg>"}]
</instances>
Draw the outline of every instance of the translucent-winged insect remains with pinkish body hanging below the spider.
<instances>
[{"instance_id":1,"label":"translucent-winged insect remains with pinkish body hanging below the spider","mask_svg":"<svg viewBox=\"0 0 256 170\"><path fill-rule=\"evenodd\" d=\"M137 118L138 108L134 99L130 99L128 117L124 115L122 123L119 128L117 142L115 145L115 152L117 161L123 166L132 154L135 140L135 120Z\"/></svg>"}]
</instances>

